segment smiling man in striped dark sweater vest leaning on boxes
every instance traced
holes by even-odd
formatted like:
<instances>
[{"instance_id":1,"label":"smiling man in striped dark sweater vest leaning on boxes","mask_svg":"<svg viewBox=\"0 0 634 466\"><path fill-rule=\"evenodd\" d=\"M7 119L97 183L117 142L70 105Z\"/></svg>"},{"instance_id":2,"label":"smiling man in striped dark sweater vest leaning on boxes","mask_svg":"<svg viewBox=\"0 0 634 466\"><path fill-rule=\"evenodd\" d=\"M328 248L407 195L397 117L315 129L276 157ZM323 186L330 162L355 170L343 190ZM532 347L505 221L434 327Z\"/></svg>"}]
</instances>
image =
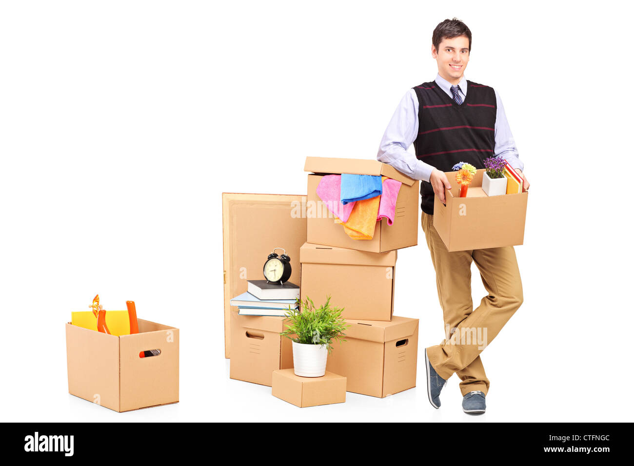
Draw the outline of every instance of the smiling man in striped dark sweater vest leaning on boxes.
<instances>
[{"instance_id":1,"label":"smiling man in striped dark sweater vest leaning on boxes","mask_svg":"<svg viewBox=\"0 0 634 466\"><path fill-rule=\"evenodd\" d=\"M460 377L465 413L484 413L489 379L479 353L517 311L523 301L522 282L513 247L448 252L434 228L434 194L444 202L451 183L444 172L458 162L484 168L484 159L500 156L522 174L513 136L500 96L492 87L467 81L471 31L460 20L444 20L432 34L434 82L415 86L401 100L380 144L377 160L420 179L421 224L436 269L438 298L446 338L425 349L427 394L434 408L446 380ZM416 156L407 152L414 144ZM453 181L453 180L452 180ZM479 269L488 295L473 309L471 262ZM465 335L484 335L465 341Z\"/></svg>"}]
</instances>

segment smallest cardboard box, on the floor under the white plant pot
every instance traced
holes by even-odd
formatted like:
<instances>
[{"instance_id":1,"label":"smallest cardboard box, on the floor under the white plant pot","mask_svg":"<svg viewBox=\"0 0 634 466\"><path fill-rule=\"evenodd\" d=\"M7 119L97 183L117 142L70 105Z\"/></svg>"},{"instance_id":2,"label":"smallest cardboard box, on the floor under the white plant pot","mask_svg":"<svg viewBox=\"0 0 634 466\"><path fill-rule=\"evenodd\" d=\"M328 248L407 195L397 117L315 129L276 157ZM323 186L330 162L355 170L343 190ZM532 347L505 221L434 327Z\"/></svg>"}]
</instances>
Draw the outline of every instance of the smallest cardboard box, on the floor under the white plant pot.
<instances>
[{"instance_id":1,"label":"smallest cardboard box, on the floor under the white plant pot","mask_svg":"<svg viewBox=\"0 0 634 466\"><path fill-rule=\"evenodd\" d=\"M299 377L293 369L274 370L271 394L300 408L346 403L346 377L328 371L322 377Z\"/></svg>"}]
</instances>

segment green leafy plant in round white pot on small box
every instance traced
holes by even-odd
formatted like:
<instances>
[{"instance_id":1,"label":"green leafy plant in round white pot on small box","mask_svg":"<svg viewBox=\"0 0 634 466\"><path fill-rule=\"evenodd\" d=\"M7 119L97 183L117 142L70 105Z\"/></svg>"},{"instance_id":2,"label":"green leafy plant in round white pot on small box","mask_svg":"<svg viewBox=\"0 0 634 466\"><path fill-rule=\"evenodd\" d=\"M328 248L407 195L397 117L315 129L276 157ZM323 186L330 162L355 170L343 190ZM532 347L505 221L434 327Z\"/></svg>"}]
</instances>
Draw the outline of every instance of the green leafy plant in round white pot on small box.
<instances>
[{"instance_id":1,"label":"green leafy plant in round white pot on small box","mask_svg":"<svg viewBox=\"0 0 634 466\"><path fill-rule=\"evenodd\" d=\"M280 333L293 341L293 366L300 377L321 377L326 373L328 353L332 351L332 340L346 341L346 320L341 317L344 308L330 307L330 296L326 303L316 308L306 297L297 299L299 309L288 309L286 330Z\"/></svg>"}]
</instances>

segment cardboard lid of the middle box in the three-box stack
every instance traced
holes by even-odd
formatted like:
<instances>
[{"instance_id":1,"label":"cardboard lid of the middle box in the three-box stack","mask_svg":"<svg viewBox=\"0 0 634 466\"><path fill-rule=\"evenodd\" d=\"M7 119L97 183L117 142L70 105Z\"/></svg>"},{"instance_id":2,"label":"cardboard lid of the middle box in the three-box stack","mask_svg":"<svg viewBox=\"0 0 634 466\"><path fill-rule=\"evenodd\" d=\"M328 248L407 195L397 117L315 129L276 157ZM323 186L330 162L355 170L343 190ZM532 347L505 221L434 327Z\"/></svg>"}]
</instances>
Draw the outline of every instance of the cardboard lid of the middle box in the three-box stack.
<instances>
[{"instance_id":1,"label":"cardboard lid of the middle box in the three-box stack","mask_svg":"<svg viewBox=\"0 0 634 466\"><path fill-rule=\"evenodd\" d=\"M396 250L368 252L304 243L299 249L299 261L311 264L353 264L391 267L396 264Z\"/></svg>"}]
</instances>

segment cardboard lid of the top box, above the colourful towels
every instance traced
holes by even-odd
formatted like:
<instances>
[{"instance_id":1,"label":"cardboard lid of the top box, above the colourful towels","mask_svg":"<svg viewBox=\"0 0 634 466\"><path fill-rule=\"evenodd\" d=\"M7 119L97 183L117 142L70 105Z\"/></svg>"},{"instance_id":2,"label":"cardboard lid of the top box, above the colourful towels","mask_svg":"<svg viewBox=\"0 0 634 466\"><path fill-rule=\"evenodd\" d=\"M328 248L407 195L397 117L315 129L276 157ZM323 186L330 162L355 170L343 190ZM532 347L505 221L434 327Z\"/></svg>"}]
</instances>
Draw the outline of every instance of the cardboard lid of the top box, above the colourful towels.
<instances>
[{"instance_id":1,"label":"cardboard lid of the top box, above the colourful towels","mask_svg":"<svg viewBox=\"0 0 634 466\"><path fill-rule=\"evenodd\" d=\"M372 159L339 159L337 157L306 157L304 171L313 173L351 173L355 175L383 175L411 186L415 179L404 175L391 165Z\"/></svg>"}]
</instances>

